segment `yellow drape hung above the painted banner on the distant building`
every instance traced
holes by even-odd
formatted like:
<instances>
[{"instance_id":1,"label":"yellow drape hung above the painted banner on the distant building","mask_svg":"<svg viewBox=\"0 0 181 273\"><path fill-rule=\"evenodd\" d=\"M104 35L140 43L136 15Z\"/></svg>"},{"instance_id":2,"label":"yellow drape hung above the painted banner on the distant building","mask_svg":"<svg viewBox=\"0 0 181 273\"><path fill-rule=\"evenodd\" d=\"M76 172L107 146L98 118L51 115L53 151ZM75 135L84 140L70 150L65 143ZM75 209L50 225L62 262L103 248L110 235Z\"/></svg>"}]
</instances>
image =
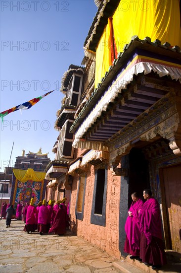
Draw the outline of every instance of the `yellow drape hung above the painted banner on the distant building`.
<instances>
[{"instance_id":1,"label":"yellow drape hung above the painted banner on the distant building","mask_svg":"<svg viewBox=\"0 0 181 273\"><path fill-rule=\"evenodd\" d=\"M20 182L26 182L27 180L33 180L36 182L45 179L45 172L35 172L33 169L19 170L13 169L13 173Z\"/></svg>"}]
</instances>

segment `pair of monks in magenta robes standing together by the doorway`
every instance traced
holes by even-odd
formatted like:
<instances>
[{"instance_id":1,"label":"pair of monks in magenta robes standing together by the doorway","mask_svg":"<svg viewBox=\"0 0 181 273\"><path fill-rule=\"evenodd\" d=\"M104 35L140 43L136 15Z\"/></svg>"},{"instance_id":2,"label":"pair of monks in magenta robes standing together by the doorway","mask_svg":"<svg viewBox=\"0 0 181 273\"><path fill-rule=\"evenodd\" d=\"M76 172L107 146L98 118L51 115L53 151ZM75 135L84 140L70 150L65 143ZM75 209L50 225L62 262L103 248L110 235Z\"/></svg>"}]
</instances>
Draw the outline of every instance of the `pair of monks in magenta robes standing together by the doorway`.
<instances>
[{"instance_id":1,"label":"pair of monks in magenta robes standing together by the doorway","mask_svg":"<svg viewBox=\"0 0 181 273\"><path fill-rule=\"evenodd\" d=\"M125 224L126 241L124 251L131 259L158 270L167 263L162 241L160 207L149 189L143 190L145 202L132 194L132 205Z\"/></svg>"}]
</instances>

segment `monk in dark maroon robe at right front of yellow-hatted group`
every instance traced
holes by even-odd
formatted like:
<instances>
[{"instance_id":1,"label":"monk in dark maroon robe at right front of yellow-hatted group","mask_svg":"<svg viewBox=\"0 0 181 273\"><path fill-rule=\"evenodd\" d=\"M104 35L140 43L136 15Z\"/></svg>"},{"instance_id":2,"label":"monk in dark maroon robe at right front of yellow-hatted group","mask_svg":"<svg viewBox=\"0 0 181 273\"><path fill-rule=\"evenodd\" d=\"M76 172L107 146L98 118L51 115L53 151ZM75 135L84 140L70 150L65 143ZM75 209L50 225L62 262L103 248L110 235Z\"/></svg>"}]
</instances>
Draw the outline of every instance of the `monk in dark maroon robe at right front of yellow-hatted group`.
<instances>
[{"instance_id":1,"label":"monk in dark maroon robe at right front of yellow-hatted group","mask_svg":"<svg viewBox=\"0 0 181 273\"><path fill-rule=\"evenodd\" d=\"M63 209L62 205L58 208L52 227L49 229L48 233L54 233L58 235L63 235L66 233L66 211Z\"/></svg>"}]
</instances>

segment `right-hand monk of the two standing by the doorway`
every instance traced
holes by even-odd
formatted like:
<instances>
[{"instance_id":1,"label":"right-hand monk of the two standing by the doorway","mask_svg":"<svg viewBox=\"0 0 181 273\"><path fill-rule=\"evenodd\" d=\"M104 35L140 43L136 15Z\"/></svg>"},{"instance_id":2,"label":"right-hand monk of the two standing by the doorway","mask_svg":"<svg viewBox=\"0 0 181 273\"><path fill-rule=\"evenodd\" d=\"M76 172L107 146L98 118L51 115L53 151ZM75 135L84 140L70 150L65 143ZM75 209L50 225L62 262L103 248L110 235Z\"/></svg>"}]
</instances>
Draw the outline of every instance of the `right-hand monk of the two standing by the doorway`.
<instances>
[{"instance_id":1,"label":"right-hand monk of the two standing by the doorway","mask_svg":"<svg viewBox=\"0 0 181 273\"><path fill-rule=\"evenodd\" d=\"M160 217L160 206L157 200L151 197L149 189L143 191L146 200L139 210L140 259L153 270L158 270L167 263L162 241L162 225Z\"/></svg>"}]
</instances>

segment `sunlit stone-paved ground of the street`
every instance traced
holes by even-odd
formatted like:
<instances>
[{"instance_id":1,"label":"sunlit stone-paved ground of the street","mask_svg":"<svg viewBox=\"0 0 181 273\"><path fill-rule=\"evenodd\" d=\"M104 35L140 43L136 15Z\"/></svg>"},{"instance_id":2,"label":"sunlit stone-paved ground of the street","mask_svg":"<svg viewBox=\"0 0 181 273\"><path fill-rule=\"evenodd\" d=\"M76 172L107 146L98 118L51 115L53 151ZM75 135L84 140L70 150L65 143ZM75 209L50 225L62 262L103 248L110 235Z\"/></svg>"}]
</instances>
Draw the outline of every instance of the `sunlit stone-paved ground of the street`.
<instances>
[{"instance_id":1,"label":"sunlit stone-paved ground of the street","mask_svg":"<svg viewBox=\"0 0 181 273\"><path fill-rule=\"evenodd\" d=\"M121 273L116 258L78 236L27 234L23 227L0 220L0 273Z\"/></svg>"}]
</instances>

